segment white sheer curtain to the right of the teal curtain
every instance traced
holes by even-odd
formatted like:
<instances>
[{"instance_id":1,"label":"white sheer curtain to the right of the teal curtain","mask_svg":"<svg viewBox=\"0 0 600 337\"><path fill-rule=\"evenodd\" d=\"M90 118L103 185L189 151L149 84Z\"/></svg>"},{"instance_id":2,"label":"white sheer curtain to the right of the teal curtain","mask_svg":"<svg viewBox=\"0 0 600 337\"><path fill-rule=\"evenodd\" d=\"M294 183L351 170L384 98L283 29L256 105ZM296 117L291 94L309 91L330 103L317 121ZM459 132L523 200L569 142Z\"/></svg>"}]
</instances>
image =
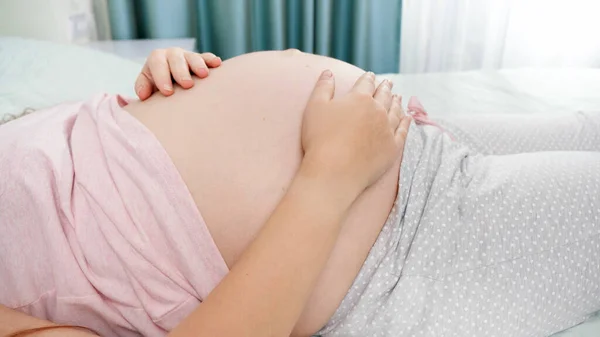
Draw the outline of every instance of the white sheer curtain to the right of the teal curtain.
<instances>
[{"instance_id":1,"label":"white sheer curtain to the right of the teal curtain","mask_svg":"<svg viewBox=\"0 0 600 337\"><path fill-rule=\"evenodd\" d=\"M600 1L403 1L401 72L514 67L600 67Z\"/></svg>"}]
</instances>

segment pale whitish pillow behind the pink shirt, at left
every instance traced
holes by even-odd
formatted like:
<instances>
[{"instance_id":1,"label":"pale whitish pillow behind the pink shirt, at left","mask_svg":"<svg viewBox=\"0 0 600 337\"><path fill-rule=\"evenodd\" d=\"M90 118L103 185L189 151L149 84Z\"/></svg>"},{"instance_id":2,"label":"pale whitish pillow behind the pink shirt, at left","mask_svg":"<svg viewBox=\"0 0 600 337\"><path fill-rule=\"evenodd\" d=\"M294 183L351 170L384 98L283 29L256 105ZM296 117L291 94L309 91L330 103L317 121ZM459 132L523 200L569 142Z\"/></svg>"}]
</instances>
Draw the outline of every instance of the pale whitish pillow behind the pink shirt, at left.
<instances>
[{"instance_id":1,"label":"pale whitish pillow behind the pink shirt, at left","mask_svg":"<svg viewBox=\"0 0 600 337\"><path fill-rule=\"evenodd\" d=\"M0 37L0 121L99 92L132 96L141 66L85 47Z\"/></svg>"}]
</instances>

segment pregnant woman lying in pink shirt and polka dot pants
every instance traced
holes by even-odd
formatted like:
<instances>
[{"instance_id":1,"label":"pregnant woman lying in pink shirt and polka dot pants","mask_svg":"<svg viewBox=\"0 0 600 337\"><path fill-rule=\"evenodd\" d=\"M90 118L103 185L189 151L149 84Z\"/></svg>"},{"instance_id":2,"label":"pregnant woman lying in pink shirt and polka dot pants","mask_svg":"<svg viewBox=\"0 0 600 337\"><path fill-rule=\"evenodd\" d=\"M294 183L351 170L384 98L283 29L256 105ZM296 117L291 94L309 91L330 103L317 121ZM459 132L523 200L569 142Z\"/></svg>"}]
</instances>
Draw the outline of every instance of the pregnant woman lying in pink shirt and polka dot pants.
<instances>
[{"instance_id":1,"label":"pregnant woman lying in pink shirt and polka dot pants","mask_svg":"<svg viewBox=\"0 0 600 337\"><path fill-rule=\"evenodd\" d=\"M413 102L405 138L361 74L255 53L0 127L0 303L120 336L543 336L600 309L598 115L442 128Z\"/></svg>"}]
</instances>

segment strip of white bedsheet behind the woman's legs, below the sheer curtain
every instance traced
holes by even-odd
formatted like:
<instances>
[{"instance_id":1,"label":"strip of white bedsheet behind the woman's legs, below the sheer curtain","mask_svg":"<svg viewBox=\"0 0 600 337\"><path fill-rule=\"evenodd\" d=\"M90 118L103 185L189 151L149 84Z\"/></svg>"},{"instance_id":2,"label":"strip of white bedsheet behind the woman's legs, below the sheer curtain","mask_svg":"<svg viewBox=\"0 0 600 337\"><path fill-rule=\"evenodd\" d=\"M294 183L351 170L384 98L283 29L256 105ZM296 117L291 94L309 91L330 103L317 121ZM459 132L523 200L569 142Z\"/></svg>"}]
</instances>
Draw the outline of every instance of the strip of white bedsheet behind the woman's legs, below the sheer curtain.
<instances>
[{"instance_id":1,"label":"strip of white bedsheet behind the woman's legs, below the sheer curtain","mask_svg":"<svg viewBox=\"0 0 600 337\"><path fill-rule=\"evenodd\" d=\"M418 96L433 117L600 110L600 69L511 69L386 74L394 91Z\"/></svg>"}]
</instances>

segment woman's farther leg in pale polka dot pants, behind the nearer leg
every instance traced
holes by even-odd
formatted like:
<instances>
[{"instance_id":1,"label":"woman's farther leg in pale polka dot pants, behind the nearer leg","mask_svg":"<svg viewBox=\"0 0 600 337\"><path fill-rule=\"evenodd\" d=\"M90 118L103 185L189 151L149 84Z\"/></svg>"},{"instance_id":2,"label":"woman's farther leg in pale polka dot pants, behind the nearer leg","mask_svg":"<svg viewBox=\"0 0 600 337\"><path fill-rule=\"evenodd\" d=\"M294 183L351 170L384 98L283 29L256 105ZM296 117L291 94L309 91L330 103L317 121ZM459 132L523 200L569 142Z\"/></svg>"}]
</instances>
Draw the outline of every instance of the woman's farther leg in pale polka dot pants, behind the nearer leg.
<instances>
[{"instance_id":1,"label":"woman's farther leg in pale polka dot pants, behind the nearer leg","mask_svg":"<svg viewBox=\"0 0 600 337\"><path fill-rule=\"evenodd\" d=\"M600 151L600 112L482 114L441 118L439 124L482 154Z\"/></svg>"}]
</instances>

